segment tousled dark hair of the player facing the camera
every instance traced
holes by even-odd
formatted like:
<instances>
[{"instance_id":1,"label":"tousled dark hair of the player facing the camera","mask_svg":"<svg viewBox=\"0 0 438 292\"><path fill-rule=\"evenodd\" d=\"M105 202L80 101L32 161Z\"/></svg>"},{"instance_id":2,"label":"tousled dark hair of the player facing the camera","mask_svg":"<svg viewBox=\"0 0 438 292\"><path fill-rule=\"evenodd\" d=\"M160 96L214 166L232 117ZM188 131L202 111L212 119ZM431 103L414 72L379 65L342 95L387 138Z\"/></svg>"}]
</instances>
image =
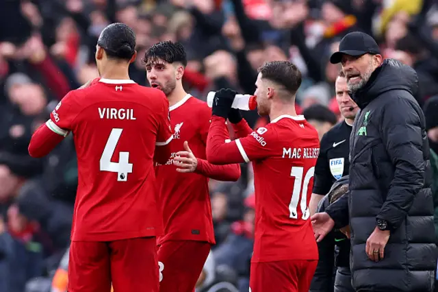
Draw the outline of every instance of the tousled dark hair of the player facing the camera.
<instances>
[{"instance_id":1,"label":"tousled dark hair of the player facing the camera","mask_svg":"<svg viewBox=\"0 0 438 292\"><path fill-rule=\"evenodd\" d=\"M179 62L187 66L187 53L183 45L179 42L172 42L172 40L157 42L144 52L143 62L157 62L158 59L169 64Z\"/></svg>"}]
</instances>

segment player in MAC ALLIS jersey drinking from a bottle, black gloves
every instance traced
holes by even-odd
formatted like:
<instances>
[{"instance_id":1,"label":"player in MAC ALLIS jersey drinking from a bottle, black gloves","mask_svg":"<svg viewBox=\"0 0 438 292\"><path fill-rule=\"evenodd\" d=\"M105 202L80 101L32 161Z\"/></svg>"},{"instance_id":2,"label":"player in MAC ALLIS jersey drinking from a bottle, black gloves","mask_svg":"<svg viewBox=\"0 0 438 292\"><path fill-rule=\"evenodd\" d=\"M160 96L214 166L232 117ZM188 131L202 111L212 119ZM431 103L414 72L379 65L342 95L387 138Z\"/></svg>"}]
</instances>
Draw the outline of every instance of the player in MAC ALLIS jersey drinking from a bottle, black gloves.
<instances>
[{"instance_id":1,"label":"player in MAC ALLIS jersey drinking from a bottle, black gloves","mask_svg":"<svg viewBox=\"0 0 438 292\"><path fill-rule=\"evenodd\" d=\"M308 292L318 263L309 220L318 133L296 115L295 95L301 73L290 62L268 62L257 77L257 110L270 123L253 131L231 104L235 92L216 93L207 139L207 159L216 165L253 162L255 243L250 291ZM236 136L224 143L229 118Z\"/></svg>"}]
</instances>

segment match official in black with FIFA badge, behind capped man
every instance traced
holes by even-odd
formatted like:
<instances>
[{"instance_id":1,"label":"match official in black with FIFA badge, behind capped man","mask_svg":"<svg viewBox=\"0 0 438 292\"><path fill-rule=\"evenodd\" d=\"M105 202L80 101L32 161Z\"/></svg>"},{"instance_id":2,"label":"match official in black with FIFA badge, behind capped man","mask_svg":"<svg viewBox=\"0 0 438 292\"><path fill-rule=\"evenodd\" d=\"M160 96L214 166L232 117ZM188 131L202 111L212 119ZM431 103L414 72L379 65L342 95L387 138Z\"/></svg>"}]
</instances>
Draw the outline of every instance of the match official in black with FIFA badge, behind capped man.
<instances>
[{"instance_id":1,"label":"match official in black with FIFA badge, behind capped man","mask_svg":"<svg viewBox=\"0 0 438 292\"><path fill-rule=\"evenodd\" d=\"M335 82L336 101L344 121L337 123L326 132L320 142L320 155L315 166L313 193L310 200L311 215L324 212L329 203L333 187L345 180L350 169L350 134L359 110L355 101L348 95L347 80L342 71ZM347 181L348 183L348 181ZM344 183L345 184L345 183ZM324 196L325 195L325 196ZM322 202L326 201L326 202ZM335 252L336 251L336 252ZM320 260L311 282L311 292L354 292L350 275L350 240L342 233L333 230L318 243ZM333 278L333 270L336 276ZM334 282L333 282L334 280Z\"/></svg>"}]
</instances>

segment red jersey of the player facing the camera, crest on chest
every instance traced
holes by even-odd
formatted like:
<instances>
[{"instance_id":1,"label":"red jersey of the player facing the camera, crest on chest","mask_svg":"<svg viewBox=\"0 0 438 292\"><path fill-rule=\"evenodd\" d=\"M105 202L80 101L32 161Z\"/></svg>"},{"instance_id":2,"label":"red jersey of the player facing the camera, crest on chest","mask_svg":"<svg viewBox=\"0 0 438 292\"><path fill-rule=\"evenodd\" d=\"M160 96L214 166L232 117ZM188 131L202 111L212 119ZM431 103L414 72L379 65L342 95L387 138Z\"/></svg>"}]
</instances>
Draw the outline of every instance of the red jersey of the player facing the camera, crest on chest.
<instances>
[{"instance_id":1,"label":"red jersey of the player facing the camera, crest on chest","mask_svg":"<svg viewBox=\"0 0 438 292\"><path fill-rule=\"evenodd\" d=\"M186 95L169 110L174 133L170 143L172 155L166 165L155 167L164 219L164 236L159 238L158 244L171 240L215 243L208 178L237 180L240 166L211 165L207 162L205 147L211 108L204 101ZM225 130L224 125L222 128ZM179 173L173 164L177 152L184 150L184 141L188 141L198 158L194 173Z\"/></svg>"}]
</instances>

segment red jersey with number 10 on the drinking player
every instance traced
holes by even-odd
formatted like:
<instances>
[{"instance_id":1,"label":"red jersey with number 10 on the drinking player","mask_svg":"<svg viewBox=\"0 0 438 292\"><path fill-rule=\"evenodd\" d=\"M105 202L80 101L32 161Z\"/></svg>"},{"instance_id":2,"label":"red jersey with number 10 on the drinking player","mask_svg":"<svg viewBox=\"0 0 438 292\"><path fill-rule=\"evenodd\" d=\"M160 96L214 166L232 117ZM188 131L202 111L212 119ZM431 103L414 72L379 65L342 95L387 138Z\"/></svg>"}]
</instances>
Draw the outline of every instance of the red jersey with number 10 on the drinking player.
<instances>
[{"instance_id":1,"label":"red jersey with number 10 on the drinking player","mask_svg":"<svg viewBox=\"0 0 438 292\"><path fill-rule=\"evenodd\" d=\"M211 117L207 157L216 164L252 161L255 183L253 263L317 260L318 247L309 220L318 133L302 116L283 115L250 129L234 125L238 138L224 144L224 119Z\"/></svg>"}]
</instances>

